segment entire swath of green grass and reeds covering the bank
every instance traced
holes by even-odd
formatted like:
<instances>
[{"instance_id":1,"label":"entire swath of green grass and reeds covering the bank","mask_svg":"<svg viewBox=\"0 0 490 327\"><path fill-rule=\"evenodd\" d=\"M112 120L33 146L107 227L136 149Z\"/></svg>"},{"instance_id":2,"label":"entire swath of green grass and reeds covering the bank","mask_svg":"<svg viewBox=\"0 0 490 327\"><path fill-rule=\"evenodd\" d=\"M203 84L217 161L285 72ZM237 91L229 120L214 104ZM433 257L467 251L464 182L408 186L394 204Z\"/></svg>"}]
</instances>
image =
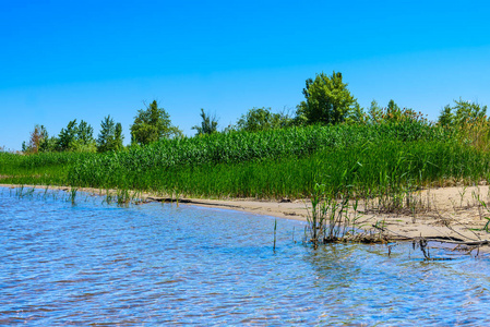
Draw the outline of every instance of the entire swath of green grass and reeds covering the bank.
<instances>
[{"instance_id":1,"label":"entire swath of green grass and reeds covering the bank","mask_svg":"<svg viewBox=\"0 0 490 327\"><path fill-rule=\"evenodd\" d=\"M196 197L373 197L489 175L488 152L405 121L165 140L120 153L0 154L1 182L154 191Z\"/></svg>"}]
</instances>

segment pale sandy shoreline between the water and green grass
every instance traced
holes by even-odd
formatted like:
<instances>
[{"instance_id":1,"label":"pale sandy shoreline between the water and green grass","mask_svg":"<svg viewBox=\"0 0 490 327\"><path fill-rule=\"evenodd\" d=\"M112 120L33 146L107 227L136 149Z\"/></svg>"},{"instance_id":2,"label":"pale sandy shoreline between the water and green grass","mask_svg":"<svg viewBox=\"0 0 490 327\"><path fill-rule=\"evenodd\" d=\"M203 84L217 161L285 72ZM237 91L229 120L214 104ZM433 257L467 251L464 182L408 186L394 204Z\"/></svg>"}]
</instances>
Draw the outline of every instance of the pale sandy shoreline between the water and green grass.
<instances>
[{"instance_id":1,"label":"pale sandy shoreline between the water and green grass","mask_svg":"<svg viewBox=\"0 0 490 327\"><path fill-rule=\"evenodd\" d=\"M16 189L22 185L1 184L0 187ZM23 185L27 189L70 191L71 186ZM94 195L115 195L117 190L75 187ZM488 185L451 186L421 190L413 196L419 208L416 213L380 213L369 209L369 202L361 202L357 210L358 226L372 229L377 226L389 238L416 240L420 238L468 246L490 244L490 189ZM306 221L311 203L308 199L259 201L251 198L203 199L158 196L148 192L133 192L143 203L178 202L186 205L214 207L246 211L263 216ZM488 207L487 207L488 204ZM367 209L368 208L368 209ZM489 231L489 232L488 232Z\"/></svg>"}]
</instances>

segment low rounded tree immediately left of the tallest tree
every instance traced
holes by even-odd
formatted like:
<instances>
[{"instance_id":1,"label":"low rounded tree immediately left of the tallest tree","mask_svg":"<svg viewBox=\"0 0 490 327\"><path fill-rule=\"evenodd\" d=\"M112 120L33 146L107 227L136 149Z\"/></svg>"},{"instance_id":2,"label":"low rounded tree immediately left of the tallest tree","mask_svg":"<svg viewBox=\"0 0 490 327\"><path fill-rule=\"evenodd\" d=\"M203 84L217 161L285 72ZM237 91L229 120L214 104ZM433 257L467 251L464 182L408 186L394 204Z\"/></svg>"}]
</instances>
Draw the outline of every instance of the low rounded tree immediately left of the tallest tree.
<instances>
[{"instance_id":1,"label":"low rounded tree immediately left of the tallest tree","mask_svg":"<svg viewBox=\"0 0 490 327\"><path fill-rule=\"evenodd\" d=\"M252 108L237 121L237 129L248 132L280 129L291 125L288 114L274 113L271 108Z\"/></svg>"}]
</instances>

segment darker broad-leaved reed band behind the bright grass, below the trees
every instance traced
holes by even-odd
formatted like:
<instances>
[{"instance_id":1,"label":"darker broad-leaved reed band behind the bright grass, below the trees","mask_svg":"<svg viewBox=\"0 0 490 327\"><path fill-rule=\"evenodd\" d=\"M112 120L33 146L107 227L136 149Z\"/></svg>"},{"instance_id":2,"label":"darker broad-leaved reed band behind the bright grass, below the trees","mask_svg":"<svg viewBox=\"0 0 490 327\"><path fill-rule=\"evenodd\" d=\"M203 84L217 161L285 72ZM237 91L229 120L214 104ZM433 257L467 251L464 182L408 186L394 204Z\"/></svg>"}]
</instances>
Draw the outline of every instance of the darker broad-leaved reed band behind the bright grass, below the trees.
<instances>
[{"instance_id":1,"label":"darker broad-leaved reed band behind the bright grass, below the trees","mask_svg":"<svg viewBox=\"0 0 490 327\"><path fill-rule=\"evenodd\" d=\"M286 157L307 157L326 148L343 148L375 140L444 140L443 129L414 123L383 125L306 126L263 132L214 133L203 137L162 140L128 152L107 153L77 162L71 173L73 183L100 186L113 185L130 174L179 167L240 164L247 161L280 160ZM122 179L121 179L122 178ZM118 180L118 182L115 182Z\"/></svg>"}]
</instances>

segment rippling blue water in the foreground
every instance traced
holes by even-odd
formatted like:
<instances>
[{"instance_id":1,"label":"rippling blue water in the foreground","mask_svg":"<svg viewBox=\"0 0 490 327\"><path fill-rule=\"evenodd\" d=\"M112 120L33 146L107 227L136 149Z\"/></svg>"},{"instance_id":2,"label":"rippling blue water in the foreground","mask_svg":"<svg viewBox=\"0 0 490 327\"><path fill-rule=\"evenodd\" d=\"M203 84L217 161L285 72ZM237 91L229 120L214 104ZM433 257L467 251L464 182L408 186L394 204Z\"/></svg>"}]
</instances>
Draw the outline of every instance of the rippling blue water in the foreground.
<instances>
[{"instance_id":1,"label":"rippling blue water in the foreground","mask_svg":"<svg viewBox=\"0 0 490 327\"><path fill-rule=\"evenodd\" d=\"M0 325L482 326L490 262L300 241L304 225L0 187ZM432 255L450 256L432 250Z\"/></svg>"}]
</instances>

